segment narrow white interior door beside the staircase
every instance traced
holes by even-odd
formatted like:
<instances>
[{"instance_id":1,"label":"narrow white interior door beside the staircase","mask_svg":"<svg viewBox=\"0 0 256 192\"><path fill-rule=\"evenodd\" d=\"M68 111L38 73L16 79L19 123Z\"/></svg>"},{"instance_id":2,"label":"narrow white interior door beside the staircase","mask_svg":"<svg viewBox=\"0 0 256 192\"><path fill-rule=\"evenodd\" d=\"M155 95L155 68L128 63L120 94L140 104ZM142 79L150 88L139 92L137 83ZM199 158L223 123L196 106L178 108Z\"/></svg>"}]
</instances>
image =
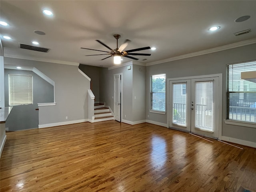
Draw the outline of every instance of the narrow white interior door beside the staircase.
<instances>
[{"instance_id":1,"label":"narrow white interior door beside the staircase","mask_svg":"<svg viewBox=\"0 0 256 192\"><path fill-rule=\"evenodd\" d=\"M121 74L114 75L114 119L121 121Z\"/></svg>"}]
</instances>

